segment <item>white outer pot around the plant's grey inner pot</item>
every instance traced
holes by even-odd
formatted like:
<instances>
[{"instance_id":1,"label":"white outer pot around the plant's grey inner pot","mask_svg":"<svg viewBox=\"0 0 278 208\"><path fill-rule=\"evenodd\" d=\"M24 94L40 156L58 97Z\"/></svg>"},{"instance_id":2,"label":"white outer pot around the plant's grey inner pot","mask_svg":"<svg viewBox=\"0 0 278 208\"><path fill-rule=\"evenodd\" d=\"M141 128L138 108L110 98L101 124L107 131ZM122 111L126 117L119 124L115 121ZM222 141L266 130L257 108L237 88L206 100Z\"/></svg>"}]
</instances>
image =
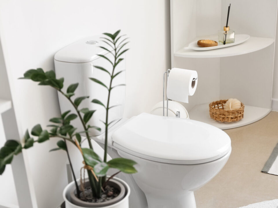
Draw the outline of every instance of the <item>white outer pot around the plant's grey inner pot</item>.
<instances>
[{"instance_id":1,"label":"white outer pot around the plant's grey inner pot","mask_svg":"<svg viewBox=\"0 0 278 208\"><path fill-rule=\"evenodd\" d=\"M119 178L116 178L116 177L114 177L113 179L122 183L122 185L125 186L125 188L126 188L125 197L122 200L118 201L117 203L115 203L113 205L108 205L108 206L100 207L100 208L129 208L129 201L128 201L128 198L129 198L129 195L130 195L129 186L122 179L119 179ZM80 181L80 179L77 180L77 183L79 183L79 181ZM74 205L71 202L70 190L72 190L73 187L75 187L74 181L69 183L63 191L63 198L65 200L65 208L85 208L85 207L81 207L81 206L78 206L78 205Z\"/></svg>"}]
</instances>

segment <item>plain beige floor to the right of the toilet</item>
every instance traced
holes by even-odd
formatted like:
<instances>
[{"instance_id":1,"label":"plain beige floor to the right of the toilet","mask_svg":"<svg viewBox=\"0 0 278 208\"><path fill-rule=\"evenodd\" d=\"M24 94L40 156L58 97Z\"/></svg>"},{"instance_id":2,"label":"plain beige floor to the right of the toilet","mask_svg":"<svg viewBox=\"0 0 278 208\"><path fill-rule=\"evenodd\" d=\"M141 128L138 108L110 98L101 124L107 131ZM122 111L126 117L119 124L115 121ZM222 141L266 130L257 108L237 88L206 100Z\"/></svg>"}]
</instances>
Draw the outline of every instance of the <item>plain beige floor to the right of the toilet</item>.
<instances>
[{"instance_id":1,"label":"plain beige floor to the right of the toilet","mask_svg":"<svg viewBox=\"0 0 278 208\"><path fill-rule=\"evenodd\" d=\"M278 143L278 112L225 132L232 153L224 168L195 192L197 208L236 208L278 199L278 176L260 172Z\"/></svg>"}]
</instances>

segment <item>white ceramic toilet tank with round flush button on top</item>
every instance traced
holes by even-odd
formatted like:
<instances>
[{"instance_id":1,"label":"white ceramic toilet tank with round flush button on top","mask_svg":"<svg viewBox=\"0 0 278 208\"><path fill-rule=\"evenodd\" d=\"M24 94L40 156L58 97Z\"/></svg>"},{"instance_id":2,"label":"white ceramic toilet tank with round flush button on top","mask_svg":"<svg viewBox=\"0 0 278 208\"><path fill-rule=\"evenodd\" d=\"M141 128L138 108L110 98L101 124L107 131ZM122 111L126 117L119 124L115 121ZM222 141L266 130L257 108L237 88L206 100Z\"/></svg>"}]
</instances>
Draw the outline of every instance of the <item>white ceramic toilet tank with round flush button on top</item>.
<instances>
[{"instance_id":1,"label":"white ceramic toilet tank with round flush button on top","mask_svg":"<svg viewBox=\"0 0 278 208\"><path fill-rule=\"evenodd\" d=\"M111 53L100 48L100 46L103 46L111 51L111 48L101 41L100 37L101 36L92 36L74 42L58 51L54 56L56 77L64 77L63 92L66 92L67 87L70 84L79 83L78 88L74 92L75 95L72 96L71 99L74 100L76 97L89 96L88 99L81 102L78 109L87 107L90 110L96 110L87 125L100 127L101 131L91 128L89 132L91 136L100 135L105 131L105 125L101 121L105 121L106 117L105 108L102 105L92 103L91 101L93 99L98 99L106 106L108 90L102 85L93 82L89 78L96 78L109 87L110 75L103 70L95 68L94 66L101 66L111 72L111 63L104 58L99 57L98 54L105 55L109 59L114 60ZM125 55L122 55L121 57L125 58ZM117 65L114 74L121 70L125 70L125 59ZM113 79L112 86L125 83L125 71L123 71ZM62 113L67 110L71 110L71 113L76 114L72 104L60 92L58 92L58 98ZM109 122L113 121L109 127L112 127L113 124L122 118L124 104L125 86L118 86L112 89L110 93L109 106L117 106L109 109ZM81 115L83 116L82 113ZM71 123L74 127L78 128L78 131L84 131L79 118L76 118Z\"/></svg>"}]
</instances>

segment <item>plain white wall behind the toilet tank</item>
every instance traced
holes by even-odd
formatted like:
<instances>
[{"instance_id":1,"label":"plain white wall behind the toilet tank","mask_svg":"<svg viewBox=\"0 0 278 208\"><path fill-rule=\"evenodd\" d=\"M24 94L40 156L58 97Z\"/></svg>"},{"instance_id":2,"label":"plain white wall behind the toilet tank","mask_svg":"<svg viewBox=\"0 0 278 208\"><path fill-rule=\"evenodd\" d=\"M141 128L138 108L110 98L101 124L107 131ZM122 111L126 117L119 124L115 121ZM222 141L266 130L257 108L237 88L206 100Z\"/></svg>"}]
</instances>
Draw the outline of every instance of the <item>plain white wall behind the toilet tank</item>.
<instances>
[{"instance_id":1,"label":"plain white wall behind the toilet tank","mask_svg":"<svg viewBox=\"0 0 278 208\"><path fill-rule=\"evenodd\" d=\"M167 0L1 0L0 37L21 136L37 123L58 116L57 94L18 80L30 68L54 68L53 56L81 38L114 32L130 37L127 53L125 116L149 112L162 99L162 72L170 67L170 17ZM25 151L34 207L57 207L66 185L63 152L48 153L56 141Z\"/></svg>"}]
</instances>

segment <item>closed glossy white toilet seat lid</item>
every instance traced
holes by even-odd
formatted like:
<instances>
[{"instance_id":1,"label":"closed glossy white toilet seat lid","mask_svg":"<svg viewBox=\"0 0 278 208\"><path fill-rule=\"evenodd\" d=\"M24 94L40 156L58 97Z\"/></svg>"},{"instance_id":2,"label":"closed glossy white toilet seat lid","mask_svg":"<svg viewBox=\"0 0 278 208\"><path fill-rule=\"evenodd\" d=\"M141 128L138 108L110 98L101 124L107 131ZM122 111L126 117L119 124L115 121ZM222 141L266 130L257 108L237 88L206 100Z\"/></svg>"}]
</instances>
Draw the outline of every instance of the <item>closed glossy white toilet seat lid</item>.
<instances>
[{"instance_id":1,"label":"closed glossy white toilet seat lid","mask_svg":"<svg viewBox=\"0 0 278 208\"><path fill-rule=\"evenodd\" d=\"M223 157L231 139L212 125L142 113L112 134L113 146L132 155L171 164L201 164Z\"/></svg>"}]
</instances>

